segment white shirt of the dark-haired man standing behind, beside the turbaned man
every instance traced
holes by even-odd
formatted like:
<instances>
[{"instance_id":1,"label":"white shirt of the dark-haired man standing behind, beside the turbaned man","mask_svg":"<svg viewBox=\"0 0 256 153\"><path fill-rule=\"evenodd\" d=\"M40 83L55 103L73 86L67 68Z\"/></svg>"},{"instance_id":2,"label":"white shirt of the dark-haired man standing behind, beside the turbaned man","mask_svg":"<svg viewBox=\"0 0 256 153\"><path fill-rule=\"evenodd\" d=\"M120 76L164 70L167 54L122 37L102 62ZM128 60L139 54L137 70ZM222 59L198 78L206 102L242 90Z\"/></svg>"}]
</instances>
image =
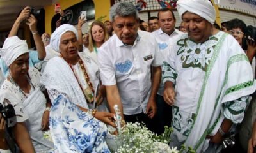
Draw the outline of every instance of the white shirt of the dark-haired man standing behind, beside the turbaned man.
<instances>
[{"instance_id":1,"label":"white shirt of the dark-haired man standing behind, beside the turbaned man","mask_svg":"<svg viewBox=\"0 0 256 153\"><path fill-rule=\"evenodd\" d=\"M165 57L168 57L170 52L172 52L172 46L177 43L177 39L184 33L182 33L177 29L174 29L173 33L168 35L164 33L160 28L157 31L154 31L153 34L156 36L156 41L157 41L159 50L163 55L163 57L165 58ZM163 84L163 76L162 76L157 94L163 96L163 92L164 92L164 84Z\"/></svg>"}]
</instances>

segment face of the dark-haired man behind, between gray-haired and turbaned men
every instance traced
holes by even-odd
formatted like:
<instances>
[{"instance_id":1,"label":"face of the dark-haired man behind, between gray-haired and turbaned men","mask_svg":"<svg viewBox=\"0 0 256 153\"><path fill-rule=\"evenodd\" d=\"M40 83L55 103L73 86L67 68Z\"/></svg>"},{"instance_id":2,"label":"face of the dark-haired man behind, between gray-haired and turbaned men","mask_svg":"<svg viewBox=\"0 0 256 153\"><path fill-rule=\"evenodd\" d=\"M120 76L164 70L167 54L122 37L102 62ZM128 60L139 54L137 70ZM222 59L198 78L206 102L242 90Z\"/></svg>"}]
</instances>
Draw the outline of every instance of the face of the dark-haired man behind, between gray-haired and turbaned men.
<instances>
[{"instance_id":1,"label":"face of the dark-haired man behind, between gray-haired and turbaned men","mask_svg":"<svg viewBox=\"0 0 256 153\"><path fill-rule=\"evenodd\" d=\"M172 34L175 28L176 20L174 20L170 11L159 12L159 25L166 34Z\"/></svg>"}]
</instances>

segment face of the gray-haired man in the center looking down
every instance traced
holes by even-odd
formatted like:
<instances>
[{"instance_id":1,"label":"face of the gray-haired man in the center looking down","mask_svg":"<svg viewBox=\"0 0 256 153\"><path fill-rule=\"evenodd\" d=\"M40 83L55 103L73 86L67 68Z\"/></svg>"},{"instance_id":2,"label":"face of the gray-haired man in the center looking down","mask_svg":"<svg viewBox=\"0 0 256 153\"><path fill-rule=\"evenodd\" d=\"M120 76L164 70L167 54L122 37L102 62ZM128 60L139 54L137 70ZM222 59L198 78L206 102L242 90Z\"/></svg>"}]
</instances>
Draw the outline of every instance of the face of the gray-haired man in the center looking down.
<instances>
[{"instance_id":1,"label":"face of the gray-haired man in the center looking down","mask_svg":"<svg viewBox=\"0 0 256 153\"><path fill-rule=\"evenodd\" d=\"M118 38L127 45L133 45L138 31L138 20L133 16L116 16L113 21L113 29Z\"/></svg>"}]
</instances>

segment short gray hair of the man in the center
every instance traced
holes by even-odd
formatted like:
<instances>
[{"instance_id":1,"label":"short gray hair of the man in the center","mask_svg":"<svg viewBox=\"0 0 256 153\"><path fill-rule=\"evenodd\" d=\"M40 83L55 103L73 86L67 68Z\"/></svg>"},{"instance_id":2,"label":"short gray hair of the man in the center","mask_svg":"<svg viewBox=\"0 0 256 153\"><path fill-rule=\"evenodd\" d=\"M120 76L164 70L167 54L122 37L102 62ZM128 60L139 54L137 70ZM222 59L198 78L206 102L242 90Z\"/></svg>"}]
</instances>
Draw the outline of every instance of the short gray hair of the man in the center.
<instances>
[{"instance_id":1,"label":"short gray hair of the man in the center","mask_svg":"<svg viewBox=\"0 0 256 153\"><path fill-rule=\"evenodd\" d=\"M128 2L116 3L111 7L109 13L109 18L111 22L114 21L114 18L117 15L120 17L133 16L134 18L136 18L136 20L139 18L138 10L136 9L136 7L132 3Z\"/></svg>"}]
</instances>

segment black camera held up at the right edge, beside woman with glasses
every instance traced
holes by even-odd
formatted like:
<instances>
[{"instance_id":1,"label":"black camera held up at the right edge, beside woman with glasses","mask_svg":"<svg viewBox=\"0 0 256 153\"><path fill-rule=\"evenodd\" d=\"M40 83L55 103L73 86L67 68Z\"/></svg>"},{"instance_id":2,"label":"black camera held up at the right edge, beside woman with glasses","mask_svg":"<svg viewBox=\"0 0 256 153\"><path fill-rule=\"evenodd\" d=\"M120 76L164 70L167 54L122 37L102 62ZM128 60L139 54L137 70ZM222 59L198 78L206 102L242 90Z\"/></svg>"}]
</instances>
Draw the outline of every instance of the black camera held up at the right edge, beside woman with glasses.
<instances>
[{"instance_id":1,"label":"black camera held up at the right edge, beside woman with glasses","mask_svg":"<svg viewBox=\"0 0 256 153\"><path fill-rule=\"evenodd\" d=\"M248 45L247 41L256 41L256 27L252 25L248 25L244 31L244 38L242 40L242 48L243 50L247 50Z\"/></svg>"}]
</instances>

